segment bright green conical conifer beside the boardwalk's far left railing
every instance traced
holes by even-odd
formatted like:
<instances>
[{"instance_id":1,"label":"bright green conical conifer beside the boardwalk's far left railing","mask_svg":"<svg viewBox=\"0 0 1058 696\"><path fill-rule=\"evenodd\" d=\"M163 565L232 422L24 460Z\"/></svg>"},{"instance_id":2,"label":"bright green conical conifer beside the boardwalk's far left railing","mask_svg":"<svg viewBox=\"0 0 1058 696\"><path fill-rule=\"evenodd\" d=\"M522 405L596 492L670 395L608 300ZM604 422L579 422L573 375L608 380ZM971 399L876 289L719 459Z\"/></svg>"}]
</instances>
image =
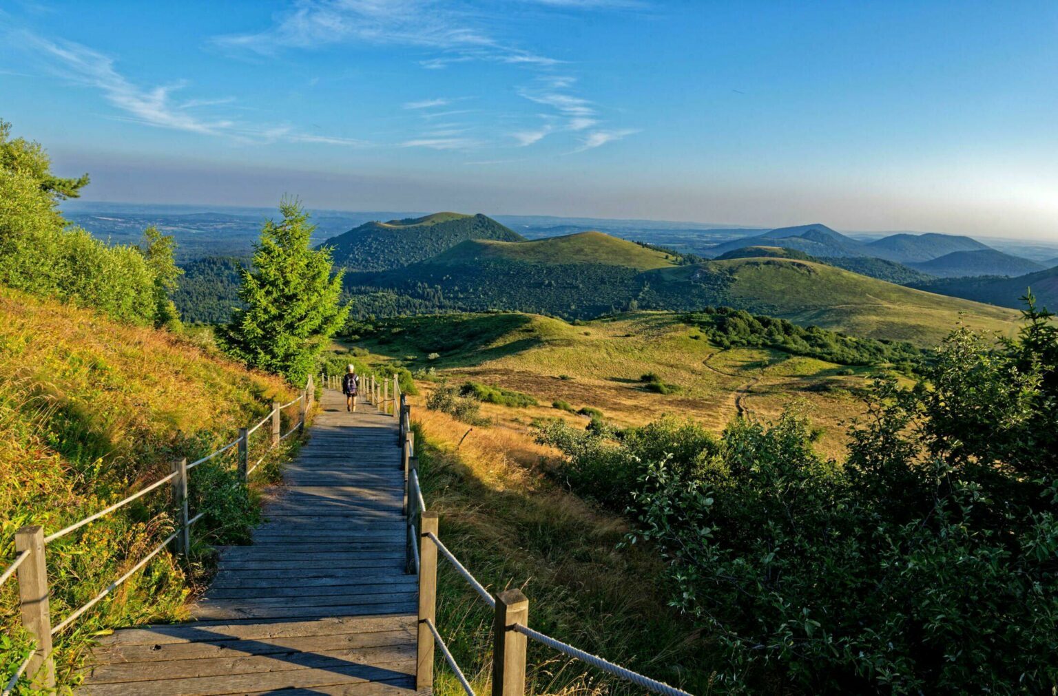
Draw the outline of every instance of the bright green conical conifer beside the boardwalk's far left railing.
<instances>
[{"instance_id":1,"label":"bright green conical conifer beside the boardwalk's far left railing","mask_svg":"<svg viewBox=\"0 0 1058 696\"><path fill-rule=\"evenodd\" d=\"M315 226L300 203L284 199L279 212L282 220L264 223L253 267L242 271L245 309L236 310L220 342L251 367L302 384L349 307L339 303L342 272L331 275L330 249L310 246Z\"/></svg>"}]
</instances>

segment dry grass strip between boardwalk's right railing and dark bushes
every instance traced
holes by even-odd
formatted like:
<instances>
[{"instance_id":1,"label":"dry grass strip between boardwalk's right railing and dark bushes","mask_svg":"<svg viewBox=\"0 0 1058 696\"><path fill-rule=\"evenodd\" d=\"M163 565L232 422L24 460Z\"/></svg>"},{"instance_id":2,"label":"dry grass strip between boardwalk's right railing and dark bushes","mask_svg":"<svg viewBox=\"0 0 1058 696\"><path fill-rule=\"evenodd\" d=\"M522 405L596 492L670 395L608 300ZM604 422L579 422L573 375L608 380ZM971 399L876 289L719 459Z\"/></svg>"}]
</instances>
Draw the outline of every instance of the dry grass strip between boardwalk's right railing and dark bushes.
<instances>
[{"instance_id":1,"label":"dry grass strip between boardwalk's right railing and dark bushes","mask_svg":"<svg viewBox=\"0 0 1058 696\"><path fill-rule=\"evenodd\" d=\"M471 429L421 401L414 400L412 413L426 503L440 513L440 536L463 565L490 590L522 589L539 630L705 693L706 646L665 605L655 580L660 565L649 549L617 548L625 520L549 479L542 462L553 453L526 433ZM443 561L439 578L439 629L475 689L487 693L491 611ZM640 693L536 644L528 679L531 694ZM461 693L442 662L435 692Z\"/></svg>"}]
</instances>

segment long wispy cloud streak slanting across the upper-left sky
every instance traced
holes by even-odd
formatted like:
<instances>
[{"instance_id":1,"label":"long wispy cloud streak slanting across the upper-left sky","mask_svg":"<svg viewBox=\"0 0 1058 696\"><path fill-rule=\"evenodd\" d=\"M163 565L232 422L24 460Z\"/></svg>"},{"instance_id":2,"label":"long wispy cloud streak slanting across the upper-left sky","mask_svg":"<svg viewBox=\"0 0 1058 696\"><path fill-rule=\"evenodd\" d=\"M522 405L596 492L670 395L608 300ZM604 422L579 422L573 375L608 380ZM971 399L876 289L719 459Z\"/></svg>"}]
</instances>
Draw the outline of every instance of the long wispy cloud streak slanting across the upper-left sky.
<instances>
[{"instance_id":1,"label":"long wispy cloud streak slanting across the upper-left sky","mask_svg":"<svg viewBox=\"0 0 1058 696\"><path fill-rule=\"evenodd\" d=\"M12 35L8 34L7 38L12 38ZM197 111L200 109L232 104L235 98L176 102L172 94L186 87L184 81L141 87L117 72L112 58L80 43L49 40L28 31L18 32L17 40L45 70L76 85L99 90L111 105L126 114L126 120L135 123L245 143L285 141L350 146L366 144L348 138L302 133L289 126L245 124L220 116L198 115Z\"/></svg>"}]
</instances>

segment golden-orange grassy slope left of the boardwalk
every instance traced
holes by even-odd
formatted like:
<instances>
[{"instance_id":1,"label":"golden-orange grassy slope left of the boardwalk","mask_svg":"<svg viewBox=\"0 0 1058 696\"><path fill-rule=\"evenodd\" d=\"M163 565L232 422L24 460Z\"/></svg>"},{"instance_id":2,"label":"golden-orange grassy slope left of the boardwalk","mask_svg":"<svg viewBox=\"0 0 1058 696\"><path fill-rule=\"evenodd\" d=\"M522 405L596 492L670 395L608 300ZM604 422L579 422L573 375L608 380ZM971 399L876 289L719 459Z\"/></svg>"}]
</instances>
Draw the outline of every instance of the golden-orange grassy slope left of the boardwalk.
<instances>
[{"instance_id":1,"label":"golden-orange grassy slope left of the boardwalk","mask_svg":"<svg viewBox=\"0 0 1058 696\"><path fill-rule=\"evenodd\" d=\"M194 460L231 441L272 400L291 395L280 379L167 331L0 289L0 566L14 558L13 537L23 525L51 533L101 510L168 474L174 459ZM261 480L274 471L269 463ZM244 541L256 518L236 476L231 457L195 470L191 510L212 511L195 527L195 563L182 567L160 554L58 636L63 679L92 631L183 616L209 558L201 543ZM50 544L52 616L65 618L128 570L172 524L163 487ZM0 646L0 664L14 670L25 643L13 583L0 589L0 625L15 641Z\"/></svg>"}]
</instances>

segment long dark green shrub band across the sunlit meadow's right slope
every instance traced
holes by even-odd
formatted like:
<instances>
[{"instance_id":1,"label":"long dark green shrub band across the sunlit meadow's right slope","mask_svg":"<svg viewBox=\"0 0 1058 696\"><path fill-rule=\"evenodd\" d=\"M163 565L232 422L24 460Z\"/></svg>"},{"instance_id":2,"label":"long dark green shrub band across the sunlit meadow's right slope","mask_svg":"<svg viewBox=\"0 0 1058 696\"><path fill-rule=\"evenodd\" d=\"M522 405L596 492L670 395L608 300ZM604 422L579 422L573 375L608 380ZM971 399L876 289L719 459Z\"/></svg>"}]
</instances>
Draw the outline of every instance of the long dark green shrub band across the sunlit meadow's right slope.
<instances>
[{"instance_id":1,"label":"long dark green shrub band across the sunlit meadow's right slope","mask_svg":"<svg viewBox=\"0 0 1058 696\"><path fill-rule=\"evenodd\" d=\"M925 358L920 349L907 342L857 338L816 326L800 327L786 319L750 314L730 307L709 307L701 312L683 314L680 318L686 324L699 328L710 342L720 348L776 348L839 365L892 363L905 371L916 369Z\"/></svg>"}]
</instances>

